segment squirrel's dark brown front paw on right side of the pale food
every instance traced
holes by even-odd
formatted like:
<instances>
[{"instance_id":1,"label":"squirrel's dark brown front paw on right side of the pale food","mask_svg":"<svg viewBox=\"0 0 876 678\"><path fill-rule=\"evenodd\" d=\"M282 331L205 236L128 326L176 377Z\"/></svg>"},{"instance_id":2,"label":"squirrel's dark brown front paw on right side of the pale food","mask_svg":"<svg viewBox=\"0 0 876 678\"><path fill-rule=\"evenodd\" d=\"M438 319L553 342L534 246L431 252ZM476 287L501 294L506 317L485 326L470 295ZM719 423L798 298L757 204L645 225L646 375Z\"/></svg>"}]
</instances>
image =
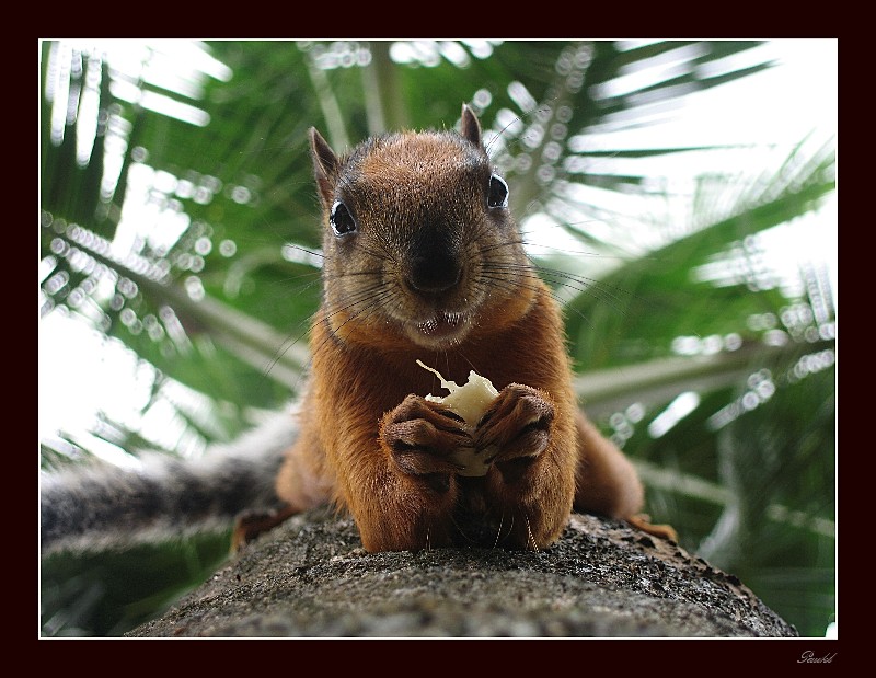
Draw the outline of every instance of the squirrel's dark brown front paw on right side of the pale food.
<instances>
[{"instance_id":1,"label":"squirrel's dark brown front paw on right side of the pale food","mask_svg":"<svg viewBox=\"0 0 876 678\"><path fill-rule=\"evenodd\" d=\"M486 461L533 459L546 447L554 406L537 389L510 383L496 397L474 433L474 444Z\"/></svg>"}]
</instances>

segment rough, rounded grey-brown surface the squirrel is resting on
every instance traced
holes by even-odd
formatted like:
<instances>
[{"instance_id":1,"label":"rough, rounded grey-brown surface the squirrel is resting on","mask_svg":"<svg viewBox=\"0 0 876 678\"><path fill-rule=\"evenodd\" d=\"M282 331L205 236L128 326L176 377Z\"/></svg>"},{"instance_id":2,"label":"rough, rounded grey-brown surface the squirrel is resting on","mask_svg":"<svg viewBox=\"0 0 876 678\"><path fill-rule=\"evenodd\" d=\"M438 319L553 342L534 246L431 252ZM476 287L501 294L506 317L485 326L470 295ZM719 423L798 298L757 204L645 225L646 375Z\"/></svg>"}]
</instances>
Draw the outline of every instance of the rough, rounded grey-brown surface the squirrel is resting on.
<instances>
[{"instance_id":1,"label":"rough, rounded grey-brown surface the squirrel is resting on","mask_svg":"<svg viewBox=\"0 0 876 678\"><path fill-rule=\"evenodd\" d=\"M540 552L367 553L350 519L297 516L127 635L796 636L731 574L625 524L575 515Z\"/></svg>"}]
</instances>

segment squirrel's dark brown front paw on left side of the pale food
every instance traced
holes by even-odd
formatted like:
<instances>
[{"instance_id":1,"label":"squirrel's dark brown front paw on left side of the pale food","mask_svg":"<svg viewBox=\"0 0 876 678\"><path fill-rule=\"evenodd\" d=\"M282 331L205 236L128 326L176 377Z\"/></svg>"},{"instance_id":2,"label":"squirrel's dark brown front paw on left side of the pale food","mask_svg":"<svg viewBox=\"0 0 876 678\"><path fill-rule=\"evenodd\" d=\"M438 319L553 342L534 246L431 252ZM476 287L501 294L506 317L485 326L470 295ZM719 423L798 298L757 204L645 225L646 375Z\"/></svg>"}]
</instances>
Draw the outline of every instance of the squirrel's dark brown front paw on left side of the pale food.
<instances>
[{"instance_id":1,"label":"squirrel's dark brown front paw on left side of the pale food","mask_svg":"<svg viewBox=\"0 0 876 678\"><path fill-rule=\"evenodd\" d=\"M424 476L456 473L460 466L453 456L474 445L462 417L413 394L383 416L380 439L399 469Z\"/></svg>"}]
</instances>

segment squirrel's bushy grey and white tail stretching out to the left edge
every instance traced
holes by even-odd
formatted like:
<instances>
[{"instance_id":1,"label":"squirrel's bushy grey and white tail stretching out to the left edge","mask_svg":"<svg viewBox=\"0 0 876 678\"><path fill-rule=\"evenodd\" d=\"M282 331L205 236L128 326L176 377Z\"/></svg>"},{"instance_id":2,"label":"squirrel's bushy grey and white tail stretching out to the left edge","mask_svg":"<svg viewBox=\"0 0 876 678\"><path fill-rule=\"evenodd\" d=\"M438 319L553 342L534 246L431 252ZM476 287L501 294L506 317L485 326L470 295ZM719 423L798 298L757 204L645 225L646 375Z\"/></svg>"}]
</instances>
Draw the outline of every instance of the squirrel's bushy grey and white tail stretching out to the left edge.
<instances>
[{"instance_id":1,"label":"squirrel's bushy grey and white tail stretching out to the left edge","mask_svg":"<svg viewBox=\"0 0 876 678\"><path fill-rule=\"evenodd\" d=\"M241 513L279 504L274 480L296 436L288 413L196 461L152 452L136 469L108 463L41 479L41 548L92 551L231 527Z\"/></svg>"}]
</instances>

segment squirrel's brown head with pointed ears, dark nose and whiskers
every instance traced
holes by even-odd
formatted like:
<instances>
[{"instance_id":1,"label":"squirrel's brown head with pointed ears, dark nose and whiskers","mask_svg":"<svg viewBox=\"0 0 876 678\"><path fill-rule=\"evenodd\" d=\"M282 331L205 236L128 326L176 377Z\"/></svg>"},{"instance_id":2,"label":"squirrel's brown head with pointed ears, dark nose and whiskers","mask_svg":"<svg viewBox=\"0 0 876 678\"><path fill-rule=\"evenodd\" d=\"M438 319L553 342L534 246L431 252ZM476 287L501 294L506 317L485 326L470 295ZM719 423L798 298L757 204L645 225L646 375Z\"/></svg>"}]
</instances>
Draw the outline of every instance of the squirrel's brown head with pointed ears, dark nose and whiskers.
<instances>
[{"instance_id":1,"label":"squirrel's brown head with pointed ears, dark nose and whiskers","mask_svg":"<svg viewBox=\"0 0 876 678\"><path fill-rule=\"evenodd\" d=\"M383 135L344 157L314 128L310 140L336 335L440 349L526 311L532 295L508 185L468 105L460 133Z\"/></svg>"}]
</instances>

